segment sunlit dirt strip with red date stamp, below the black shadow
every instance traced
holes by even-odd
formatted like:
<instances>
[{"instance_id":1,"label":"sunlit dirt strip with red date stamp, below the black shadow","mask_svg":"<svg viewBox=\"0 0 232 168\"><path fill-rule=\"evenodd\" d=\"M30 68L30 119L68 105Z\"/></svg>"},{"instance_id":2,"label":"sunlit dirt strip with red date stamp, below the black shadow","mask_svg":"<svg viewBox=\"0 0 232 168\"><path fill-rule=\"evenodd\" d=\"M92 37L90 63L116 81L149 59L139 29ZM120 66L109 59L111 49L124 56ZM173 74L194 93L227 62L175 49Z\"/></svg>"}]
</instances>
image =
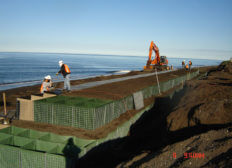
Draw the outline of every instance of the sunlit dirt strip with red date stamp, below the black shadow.
<instances>
[{"instance_id":1,"label":"sunlit dirt strip with red date stamp, below the black shadow","mask_svg":"<svg viewBox=\"0 0 232 168\"><path fill-rule=\"evenodd\" d=\"M193 136L158 152L144 152L117 167L218 168L231 165L232 128L226 128Z\"/></svg>"}]
</instances>

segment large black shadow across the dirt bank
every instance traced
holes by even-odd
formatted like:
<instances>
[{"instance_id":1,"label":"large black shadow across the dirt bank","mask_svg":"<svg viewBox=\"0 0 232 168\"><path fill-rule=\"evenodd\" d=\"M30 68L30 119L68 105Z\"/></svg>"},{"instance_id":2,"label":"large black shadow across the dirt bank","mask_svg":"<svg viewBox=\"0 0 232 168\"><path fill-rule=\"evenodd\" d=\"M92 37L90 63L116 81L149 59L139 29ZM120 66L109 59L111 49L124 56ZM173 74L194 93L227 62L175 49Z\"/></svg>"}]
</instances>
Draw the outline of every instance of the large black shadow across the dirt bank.
<instances>
[{"instance_id":1,"label":"large black shadow across the dirt bank","mask_svg":"<svg viewBox=\"0 0 232 168\"><path fill-rule=\"evenodd\" d=\"M129 136L107 141L93 148L84 157L80 158L77 167L110 168L130 160L144 151L151 151L153 153L131 165L131 167L136 167L154 158L167 145L186 140L209 130L222 129L232 125L232 123L204 125L196 121L196 126L169 131L166 118L178 104L186 89L184 87L179 92L176 92L172 98L169 96L156 98L153 108L146 111L131 126ZM194 120L191 117L194 115L194 109L199 106L197 105L189 111L189 121Z\"/></svg>"}]
</instances>

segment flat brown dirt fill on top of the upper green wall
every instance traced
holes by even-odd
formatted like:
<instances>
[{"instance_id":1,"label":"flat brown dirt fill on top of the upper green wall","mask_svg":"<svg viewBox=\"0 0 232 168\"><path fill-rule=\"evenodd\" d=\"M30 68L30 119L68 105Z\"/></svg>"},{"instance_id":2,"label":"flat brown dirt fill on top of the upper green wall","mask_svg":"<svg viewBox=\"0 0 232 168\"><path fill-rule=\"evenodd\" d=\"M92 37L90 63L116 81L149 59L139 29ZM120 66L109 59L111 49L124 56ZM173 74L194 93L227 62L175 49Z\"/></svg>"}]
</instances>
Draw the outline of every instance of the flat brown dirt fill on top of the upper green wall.
<instances>
[{"instance_id":1,"label":"flat brown dirt fill on top of the upper green wall","mask_svg":"<svg viewBox=\"0 0 232 168\"><path fill-rule=\"evenodd\" d=\"M193 69L192 71L196 71ZM182 75L186 75L185 70L178 70L169 73L164 73L159 75L159 82L167 81ZM94 97L101 99L121 99L126 96L137 92L148 86L155 85L157 83L156 76L142 77L136 79L129 79L121 82L114 82L110 84L100 85L97 87L92 87L88 89L83 89L80 91L73 91L72 93L67 93L70 96L84 96L84 97Z\"/></svg>"}]
</instances>

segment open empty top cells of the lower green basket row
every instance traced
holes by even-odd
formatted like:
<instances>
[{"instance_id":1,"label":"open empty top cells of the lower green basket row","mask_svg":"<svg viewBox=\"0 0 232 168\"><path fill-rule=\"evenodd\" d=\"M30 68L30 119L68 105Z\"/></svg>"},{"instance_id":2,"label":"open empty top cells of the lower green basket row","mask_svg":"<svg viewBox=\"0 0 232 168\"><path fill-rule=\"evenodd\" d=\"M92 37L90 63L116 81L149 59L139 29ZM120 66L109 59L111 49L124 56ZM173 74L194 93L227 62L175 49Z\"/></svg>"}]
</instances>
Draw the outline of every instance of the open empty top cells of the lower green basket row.
<instances>
[{"instance_id":1,"label":"open empty top cells of the lower green basket row","mask_svg":"<svg viewBox=\"0 0 232 168\"><path fill-rule=\"evenodd\" d=\"M84 155L86 150L95 142L95 140L81 139L74 136L61 136L14 126L0 130L0 144L39 152L63 155L65 147L71 141L73 145L78 147L79 156Z\"/></svg>"}]
</instances>

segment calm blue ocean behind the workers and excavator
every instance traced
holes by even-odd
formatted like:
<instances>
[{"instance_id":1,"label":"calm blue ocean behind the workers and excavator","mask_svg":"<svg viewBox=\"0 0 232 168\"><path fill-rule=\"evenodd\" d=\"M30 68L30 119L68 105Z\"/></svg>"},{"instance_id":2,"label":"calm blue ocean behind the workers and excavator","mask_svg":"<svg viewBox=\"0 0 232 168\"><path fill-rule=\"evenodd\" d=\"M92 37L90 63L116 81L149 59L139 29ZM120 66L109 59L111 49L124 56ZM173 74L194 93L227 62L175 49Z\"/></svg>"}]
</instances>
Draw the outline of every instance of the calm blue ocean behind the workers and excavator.
<instances>
[{"instance_id":1,"label":"calm blue ocean behind the workers and excavator","mask_svg":"<svg viewBox=\"0 0 232 168\"><path fill-rule=\"evenodd\" d=\"M46 75L56 81L62 76L58 61L63 60L71 70L71 80L100 75L122 74L142 70L148 56L115 56L94 54L0 52L0 90L40 84ZM182 60L168 58L169 65L180 68ZM191 59L193 66L218 65L221 60Z\"/></svg>"}]
</instances>

